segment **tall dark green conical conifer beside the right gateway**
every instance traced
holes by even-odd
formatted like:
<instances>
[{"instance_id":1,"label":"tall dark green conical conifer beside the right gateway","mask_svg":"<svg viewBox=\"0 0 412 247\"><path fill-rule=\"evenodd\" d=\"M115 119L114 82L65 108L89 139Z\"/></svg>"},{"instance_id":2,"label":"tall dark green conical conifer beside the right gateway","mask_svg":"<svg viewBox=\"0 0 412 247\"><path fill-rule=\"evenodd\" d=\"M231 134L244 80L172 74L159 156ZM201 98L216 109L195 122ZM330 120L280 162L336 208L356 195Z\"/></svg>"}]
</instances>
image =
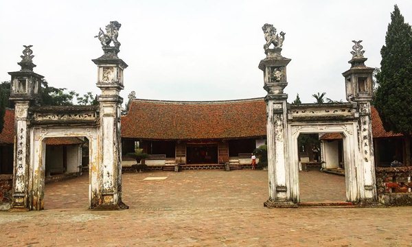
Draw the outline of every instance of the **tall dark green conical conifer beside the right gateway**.
<instances>
[{"instance_id":1,"label":"tall dark green conical conifer beside the right gateway","mask_svg":"<svg viewBox=\"0 0 412 247\"><path fill-rule=\"evenodd\" d=\"M376 74L378 88L374 105L385 130L404 134L406 165L411 165L412 134L412 29L397 5L380 49L382 61Z\"/></svg>"}]
</instances>

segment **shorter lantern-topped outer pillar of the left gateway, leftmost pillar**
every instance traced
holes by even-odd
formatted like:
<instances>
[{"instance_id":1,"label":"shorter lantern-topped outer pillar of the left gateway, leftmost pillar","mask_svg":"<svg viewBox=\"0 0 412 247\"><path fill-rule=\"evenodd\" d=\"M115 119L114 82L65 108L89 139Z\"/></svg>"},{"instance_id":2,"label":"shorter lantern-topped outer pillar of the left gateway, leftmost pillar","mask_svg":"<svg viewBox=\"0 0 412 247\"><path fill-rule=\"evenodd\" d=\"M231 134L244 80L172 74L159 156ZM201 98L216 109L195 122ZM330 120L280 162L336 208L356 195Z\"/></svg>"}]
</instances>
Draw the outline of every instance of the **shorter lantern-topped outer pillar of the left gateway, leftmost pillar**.
<instances>
[{"instance_id":1,"label":"shorter lantern-topped outer pillar of the left gateway, leftmost pillar","mask_svg":"<svg viewBox=\"0 0 412 247\"><path fill-rule=\"evenodd\" d=\"M24 45L20 71L12 75L10 101L14 102L14 158L13 158L13 203L12 211L30 210L30 131L29 107L38 101L38 89L42 75L33 72L36 65L32 45Z\"/></svg>"}]
</instances>

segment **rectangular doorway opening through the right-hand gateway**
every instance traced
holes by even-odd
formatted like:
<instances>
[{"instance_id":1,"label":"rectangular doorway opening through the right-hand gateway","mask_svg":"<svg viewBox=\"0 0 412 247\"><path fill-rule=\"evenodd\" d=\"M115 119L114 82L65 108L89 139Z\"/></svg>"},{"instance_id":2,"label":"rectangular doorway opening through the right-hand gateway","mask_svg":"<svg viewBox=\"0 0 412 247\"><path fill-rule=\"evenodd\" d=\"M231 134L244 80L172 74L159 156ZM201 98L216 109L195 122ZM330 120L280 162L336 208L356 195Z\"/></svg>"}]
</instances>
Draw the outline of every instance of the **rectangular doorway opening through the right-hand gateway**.
<instances>
[{"instance_id":1,"label":"rectangular doorway opening through the right-hand gateway","mask_svg":"<svg viewBox=\"0 0 412 247\"><path fill-rule=\"evenodd\" d=\"M319 134L299 134L297 164L301 204L346 205L345 169L341 168L344 167L341 163L344 160L342 138L340 133L320 137Z\"/></svg>"}]
</instances>

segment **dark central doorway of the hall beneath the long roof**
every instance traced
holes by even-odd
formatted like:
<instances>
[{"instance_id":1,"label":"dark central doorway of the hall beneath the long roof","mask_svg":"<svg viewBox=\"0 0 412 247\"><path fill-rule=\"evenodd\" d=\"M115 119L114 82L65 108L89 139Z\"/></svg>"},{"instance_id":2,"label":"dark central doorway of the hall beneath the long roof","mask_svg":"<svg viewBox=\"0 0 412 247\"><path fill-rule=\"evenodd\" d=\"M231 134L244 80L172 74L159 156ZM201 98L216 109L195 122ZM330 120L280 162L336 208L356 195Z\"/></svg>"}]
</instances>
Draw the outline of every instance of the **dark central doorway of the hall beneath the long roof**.
<instances>
[{"instance_id":1,"label":"dark central doorway of the hall beneath the long roof","mask_svg":"<svg viewBox=\"0 0 412 247\"><path fill-rule=\"evenodd\" d=\"M217 164L218 144L188 144L187 164Z\"/></svg>"}]
</instances>

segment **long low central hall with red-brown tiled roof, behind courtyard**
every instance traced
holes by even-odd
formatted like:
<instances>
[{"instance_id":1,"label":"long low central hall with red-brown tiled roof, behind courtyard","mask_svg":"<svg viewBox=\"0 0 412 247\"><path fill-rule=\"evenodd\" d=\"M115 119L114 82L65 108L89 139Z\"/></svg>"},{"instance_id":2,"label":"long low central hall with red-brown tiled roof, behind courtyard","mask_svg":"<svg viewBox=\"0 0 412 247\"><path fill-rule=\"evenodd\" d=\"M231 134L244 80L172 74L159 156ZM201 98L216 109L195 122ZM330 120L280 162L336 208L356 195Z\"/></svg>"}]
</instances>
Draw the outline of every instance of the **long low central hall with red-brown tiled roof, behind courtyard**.
<instances>
[{"instance_id":1,"label":"long low central hall with red-brown tiled roof, behind courtyard","mask_svg":"<svg viewBox=\"0 0 412 247\"><path fill-rule=\"evenodd\" d=\"M265 143L263 98L212 102L130 99L122 117L122 154L135 148L149 154L147 165L176 163L216 168L231 161L249 164Z\"/></svg>"}]
</instances>

